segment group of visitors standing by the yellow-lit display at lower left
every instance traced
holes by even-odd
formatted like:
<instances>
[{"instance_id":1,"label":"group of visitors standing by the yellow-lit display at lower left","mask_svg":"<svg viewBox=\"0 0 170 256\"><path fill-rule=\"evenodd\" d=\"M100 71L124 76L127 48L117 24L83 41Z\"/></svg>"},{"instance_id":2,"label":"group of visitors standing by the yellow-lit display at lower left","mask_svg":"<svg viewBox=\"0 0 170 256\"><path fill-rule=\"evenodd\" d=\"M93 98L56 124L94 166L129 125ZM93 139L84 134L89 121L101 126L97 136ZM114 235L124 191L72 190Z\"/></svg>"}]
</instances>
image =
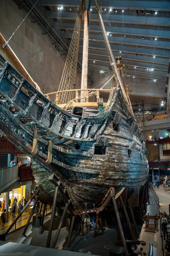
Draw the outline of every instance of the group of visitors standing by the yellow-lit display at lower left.
<instances>
[{"instance_id":1,"label":"group of visitors standing by the yellow-lit display at lower left","mask_svg":"<svg viewBox=\"0 0 170 256\"><path fill-rule=\"evenodd\" d=\"M17 210L17 203L18 203L18 214L20 213L20 211L23 209L24 206L26 206L27 201L26 199L23 197L19 202L17 200L17 197L14 197L14 201L13 204L11 206L11 215L12 215L12 221L14 221L15 219L15 215L16 215L16 210ZM11 205L11 199L9 198L9 207ZM1 220L2 220L2 227L1 229L4 229L4 225L6 223L6 209L5 209L5 200L3 200L3 202L1 203L0 201L0 210L2 209L2 213L1 213ZM26 209L27 212L27 209ZM20 216L20 220L22 219L22 215Z\"/></svg>"}]
</instances>

